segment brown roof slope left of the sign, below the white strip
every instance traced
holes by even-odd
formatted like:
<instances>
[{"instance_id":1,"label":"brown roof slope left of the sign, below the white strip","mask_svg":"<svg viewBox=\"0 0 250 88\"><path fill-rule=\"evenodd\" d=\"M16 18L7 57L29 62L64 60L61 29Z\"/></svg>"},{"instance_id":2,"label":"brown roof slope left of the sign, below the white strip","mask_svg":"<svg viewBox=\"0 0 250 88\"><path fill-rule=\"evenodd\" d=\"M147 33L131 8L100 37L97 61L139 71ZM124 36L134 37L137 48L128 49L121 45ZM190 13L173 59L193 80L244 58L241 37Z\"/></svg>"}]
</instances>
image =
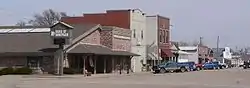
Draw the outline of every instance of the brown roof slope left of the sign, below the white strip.
<instances>
[{"instance_id":1,"label":"brown roof slope left of the sign, below the white strip","mask_svg":"<svg viewBox=\"0 0 250 88\"><path fill-rule=\"evenodd\" d=\"M0 41L0 53L42 52L45 48L57 48L52 45L49 33L0 34Z\"/></svg>"}]
</instances>

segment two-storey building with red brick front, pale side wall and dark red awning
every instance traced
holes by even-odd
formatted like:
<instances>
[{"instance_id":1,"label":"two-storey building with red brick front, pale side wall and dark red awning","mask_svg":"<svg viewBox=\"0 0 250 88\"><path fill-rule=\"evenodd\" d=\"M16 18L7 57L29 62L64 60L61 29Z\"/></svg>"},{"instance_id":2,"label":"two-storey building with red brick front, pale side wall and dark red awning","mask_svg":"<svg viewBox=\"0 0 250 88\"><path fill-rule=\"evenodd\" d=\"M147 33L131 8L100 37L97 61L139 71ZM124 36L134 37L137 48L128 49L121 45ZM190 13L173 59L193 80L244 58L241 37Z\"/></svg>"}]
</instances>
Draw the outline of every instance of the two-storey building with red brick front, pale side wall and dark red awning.
<instances>
[{"instance_id":1,"label":"two-storey building with red brick front, pale side wall and dark red awning","mask_svg":"<svg viewBox=\"0 0 250 88\"><path fill-rule=\"evenodd\" d=\"M173 57L170 47L170 20L155 15L147 16L146 44L148 63L154 65L163 59Z\"/></svg>"}]
</instances>

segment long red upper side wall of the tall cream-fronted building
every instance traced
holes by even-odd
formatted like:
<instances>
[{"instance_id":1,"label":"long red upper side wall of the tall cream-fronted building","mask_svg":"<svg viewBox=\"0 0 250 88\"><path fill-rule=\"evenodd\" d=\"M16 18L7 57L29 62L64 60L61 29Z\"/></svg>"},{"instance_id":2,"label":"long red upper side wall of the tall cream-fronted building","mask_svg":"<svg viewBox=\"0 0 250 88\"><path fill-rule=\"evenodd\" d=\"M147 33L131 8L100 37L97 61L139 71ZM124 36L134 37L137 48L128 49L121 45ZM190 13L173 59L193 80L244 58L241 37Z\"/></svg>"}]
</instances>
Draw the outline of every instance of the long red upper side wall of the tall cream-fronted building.
<instances>
[{"instance_id":1,"label":"long red upper side wall of the tall cream-fronted building","mask_svg":"<svg viewBox=\"0 0 250 88\"><path fill-rule=\"evenodd\" d=\"M62 21L69 24L94 23L105 26L130 28L129 10L108 10L106 13L83 14L80 17L63 17Z\"/></svg>"}]
</instances>

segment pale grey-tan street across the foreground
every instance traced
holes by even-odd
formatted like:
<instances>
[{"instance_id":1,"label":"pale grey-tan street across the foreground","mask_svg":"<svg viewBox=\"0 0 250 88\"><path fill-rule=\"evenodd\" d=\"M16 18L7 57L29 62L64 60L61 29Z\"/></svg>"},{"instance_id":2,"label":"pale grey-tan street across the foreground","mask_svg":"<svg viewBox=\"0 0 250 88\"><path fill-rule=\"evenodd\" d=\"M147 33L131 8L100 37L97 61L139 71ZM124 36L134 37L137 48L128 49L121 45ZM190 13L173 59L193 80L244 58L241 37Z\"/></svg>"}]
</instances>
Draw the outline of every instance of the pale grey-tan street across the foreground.
<instances>
[{"instance_id":1,"label":"pale grey-tan street across the foreground","mask_svg":"<svg viewBox=\"0 0 250 88\"><path fill-rule=\"evenodd\" d=\"M250 70L130 75L0 76L0 88L250 88Z\"/></svg>"}]
</instances>

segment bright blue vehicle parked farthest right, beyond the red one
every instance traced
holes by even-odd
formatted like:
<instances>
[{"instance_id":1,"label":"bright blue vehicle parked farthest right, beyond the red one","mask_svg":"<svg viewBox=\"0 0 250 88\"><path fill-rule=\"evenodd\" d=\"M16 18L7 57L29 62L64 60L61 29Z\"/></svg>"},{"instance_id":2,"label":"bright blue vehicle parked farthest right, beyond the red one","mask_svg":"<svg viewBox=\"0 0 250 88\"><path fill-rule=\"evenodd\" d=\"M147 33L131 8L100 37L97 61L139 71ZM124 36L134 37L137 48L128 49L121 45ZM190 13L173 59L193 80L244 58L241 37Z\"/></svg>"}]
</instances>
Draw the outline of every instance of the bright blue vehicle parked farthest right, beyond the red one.
<instances>
[{"instance_id":1,"label":"bright blue vehicle parked farthest right, beyond the red one","mask_svg":"<svg viewBox=\"0 0 250 88\"><path fill-rule=\"evenodd\" d=\"M202 65L203 69L220 69L219 62L207 62Z\"/></svg>"}]
</instances>

